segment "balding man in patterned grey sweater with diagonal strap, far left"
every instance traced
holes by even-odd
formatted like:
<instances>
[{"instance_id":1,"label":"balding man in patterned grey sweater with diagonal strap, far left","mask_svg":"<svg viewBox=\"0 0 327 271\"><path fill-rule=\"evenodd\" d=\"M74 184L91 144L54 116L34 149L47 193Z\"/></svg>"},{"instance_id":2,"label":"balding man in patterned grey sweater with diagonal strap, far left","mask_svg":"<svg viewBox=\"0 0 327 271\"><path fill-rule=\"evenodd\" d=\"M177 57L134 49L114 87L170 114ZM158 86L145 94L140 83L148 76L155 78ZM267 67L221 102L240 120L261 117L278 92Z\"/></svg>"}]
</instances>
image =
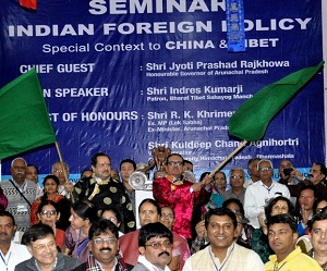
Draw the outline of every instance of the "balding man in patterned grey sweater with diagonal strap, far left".
<instances>
[{"instance_id":1,"label":"balding man in patterned grey sweater with diagonal strap, far left","mask_svg":"<svg viewBox=\"0 0 327 271\"><path fill-rule=\"evenodd\" d=\"M26 180L27 163L23 158L15 158L11 162L11 180L0 182L3 194L8 198L7 211L16 221L17 231L26 231L31 226L31 205L36 199L37 186Z\"/></svg>"}]
</instances>

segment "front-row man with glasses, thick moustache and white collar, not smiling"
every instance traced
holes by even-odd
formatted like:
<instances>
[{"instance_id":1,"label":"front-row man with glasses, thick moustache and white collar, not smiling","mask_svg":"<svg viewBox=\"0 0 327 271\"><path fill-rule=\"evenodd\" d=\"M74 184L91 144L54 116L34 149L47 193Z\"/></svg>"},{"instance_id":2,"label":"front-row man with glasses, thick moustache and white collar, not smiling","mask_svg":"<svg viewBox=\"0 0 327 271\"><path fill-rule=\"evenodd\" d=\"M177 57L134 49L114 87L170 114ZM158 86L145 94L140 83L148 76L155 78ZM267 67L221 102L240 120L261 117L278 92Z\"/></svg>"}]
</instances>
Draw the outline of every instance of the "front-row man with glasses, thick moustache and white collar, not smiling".
<instances>
[{"instance_id":1,"label":"front-row man with glasses, thick moustache and white collar, not smiling","mask_svg":"<svg viewBox=\"0 0 327 271\"><path fill-rule=\"evenodd\" d=\"M169 271L172 233L160 222L148 223L140 230L137 264L132 271Z\"/></svg>"}]
</instances>

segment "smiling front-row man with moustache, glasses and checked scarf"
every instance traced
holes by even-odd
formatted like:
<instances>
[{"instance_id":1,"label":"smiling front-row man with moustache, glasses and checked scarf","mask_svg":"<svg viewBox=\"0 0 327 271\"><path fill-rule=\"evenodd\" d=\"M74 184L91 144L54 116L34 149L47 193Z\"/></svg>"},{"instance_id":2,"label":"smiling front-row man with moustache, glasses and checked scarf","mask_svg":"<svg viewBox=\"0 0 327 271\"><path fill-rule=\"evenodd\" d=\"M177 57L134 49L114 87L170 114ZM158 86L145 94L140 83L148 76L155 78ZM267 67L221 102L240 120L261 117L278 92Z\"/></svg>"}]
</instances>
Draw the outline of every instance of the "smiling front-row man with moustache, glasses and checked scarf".
<instances>
[{"instance_id":1,"label":"smiling front-row man with moustache, glasses and checked scarf","mask_svg":"<svg viewBox=\"0 0 327 271\"><path fill-rule=\"evenodd\" d=\"M119 256L118 227L109 220L94 222L88 232L89 255L83 264L85 271L125 271L126 266Z\"/></svg>"}]
</instances>

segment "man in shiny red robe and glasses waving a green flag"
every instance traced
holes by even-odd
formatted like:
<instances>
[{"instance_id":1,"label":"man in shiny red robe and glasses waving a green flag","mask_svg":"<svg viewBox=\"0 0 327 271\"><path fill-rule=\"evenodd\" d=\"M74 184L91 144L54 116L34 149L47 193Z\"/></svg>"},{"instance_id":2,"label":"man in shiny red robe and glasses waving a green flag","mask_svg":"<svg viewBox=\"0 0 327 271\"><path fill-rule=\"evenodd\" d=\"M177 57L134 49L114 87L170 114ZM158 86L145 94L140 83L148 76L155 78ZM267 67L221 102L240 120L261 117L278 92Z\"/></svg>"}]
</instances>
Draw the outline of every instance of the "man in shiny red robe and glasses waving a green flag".
<instances>
[{"instance_id":1,"label":"man in shiny red robe and glasses waving a green flag","mask_svg":"<svg viewBox=\"0 0 327 271\"><path fill-rule=\"evenodd\" d=\"M175 214L172 231L183 237L192 238L191 220L193 207L209 201L211 196L211 178L206 176L199 183L192 183L183 176L184 159L171 153L166 160L166 176L154 181L154 198L162 206L173 207Z\"/></svg>"}]
</instances>

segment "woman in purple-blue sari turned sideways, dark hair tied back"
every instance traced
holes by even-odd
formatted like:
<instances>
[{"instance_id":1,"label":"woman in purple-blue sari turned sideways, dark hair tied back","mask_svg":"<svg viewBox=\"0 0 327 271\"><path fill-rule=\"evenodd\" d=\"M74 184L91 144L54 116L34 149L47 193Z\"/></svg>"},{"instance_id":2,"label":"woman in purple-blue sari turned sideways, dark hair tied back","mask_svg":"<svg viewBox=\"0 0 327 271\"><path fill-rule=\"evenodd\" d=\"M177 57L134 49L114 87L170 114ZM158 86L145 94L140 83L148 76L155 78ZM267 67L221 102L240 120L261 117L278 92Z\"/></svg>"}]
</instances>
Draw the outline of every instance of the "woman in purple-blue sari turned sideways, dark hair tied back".
<instances>
[{"instance_id":1,"label":"woman in purple-blue sari turned sideways, dark hair tied back","mask_svg":"<svg viewBox=\"0 0 327 271\"><path fill-rule=\"evenodd\" d=\"M89 200L76 201L71 208L71 226L65 231L62 254L71 255L73 258L86 262L88 230L97 219L97 210Z\"/></svg>"}]
</instances>

